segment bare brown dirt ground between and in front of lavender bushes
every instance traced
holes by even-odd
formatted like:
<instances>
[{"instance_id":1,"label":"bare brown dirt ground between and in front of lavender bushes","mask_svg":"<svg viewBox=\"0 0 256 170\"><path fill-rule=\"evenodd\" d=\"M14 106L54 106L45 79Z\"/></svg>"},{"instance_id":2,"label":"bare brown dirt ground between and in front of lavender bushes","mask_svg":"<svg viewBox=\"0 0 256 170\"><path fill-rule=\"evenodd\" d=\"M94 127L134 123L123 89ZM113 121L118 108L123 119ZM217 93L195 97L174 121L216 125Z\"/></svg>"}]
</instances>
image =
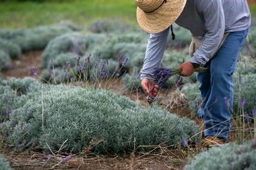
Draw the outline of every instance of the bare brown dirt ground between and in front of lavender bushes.
<instances>
[{"instance_id":1,"label":"bare brown dirt ground between and in front of lavender bushes","mask_svg":"<svg viewBox=\"0 0 256 170\"><path fill-rule=\"evenodd\" d=\"M33 77L32 67L35 67L40 74L40 60L42 52L28 52L23 54L17 60L12 61L12 67L8 71L4 71L3 77ZM146 95L138 97L136 92L123 91L123 85L121 81L117 81L113 85L113 91L126 95L135 101L139 101L143 105L148 105L146 101ZM168 94L168 95L166 95ZM160 93L160 99L158 103L164 107L166 105L166 97L172 94L172 91L163 90ZM179 95L180 96L180 95ZM181 99L182 101L182 99ZM172 113L177 113L179 116L186 116L195 120L200 126L203 126L201 120L195 116L191 116L191 113L184 106L171 105L166 109ZM1 136L0 136L1 140ZM186 150L177 149L170 151L167 148L161 146L152 146L152 149L156 148L151 153L127 153L127 155L77 155L74 156L70 161L63 164L60 163L61 157L57 155L52 158L51 161L47 161L49 158L47 155L41 153L22 153L22 154L5 154L7 159L11 162L13 169L17 170L30 170L30 169L172 169L181 170L187 163L188 157L198 153L201 148L198 146L193 148L187 148Z\"/></svg>"}]
</instances>

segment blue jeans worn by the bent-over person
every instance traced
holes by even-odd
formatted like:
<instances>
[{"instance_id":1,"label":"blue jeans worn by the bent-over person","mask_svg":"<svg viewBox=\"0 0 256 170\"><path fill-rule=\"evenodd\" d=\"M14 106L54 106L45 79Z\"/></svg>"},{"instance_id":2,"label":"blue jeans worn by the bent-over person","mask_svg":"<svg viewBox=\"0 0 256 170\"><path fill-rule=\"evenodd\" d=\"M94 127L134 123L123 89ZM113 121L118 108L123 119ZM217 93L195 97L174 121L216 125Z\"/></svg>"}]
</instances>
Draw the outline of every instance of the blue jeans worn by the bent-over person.
<instances>
[{"instance_id":1,"label":"blue jeans worn by the bent-over person","mask_svg":"<svg viewBox=\"0 0 256 170\"><path fill-rule=\"evenodd\" d=\"M205 67L210 67L209 71L197 75L203 99L197 114L204 120L205 136L228 138L233 103L232 74L247 34L248 30L230 32L214 58L206 63Z\"/></svg>"}]
</instances>

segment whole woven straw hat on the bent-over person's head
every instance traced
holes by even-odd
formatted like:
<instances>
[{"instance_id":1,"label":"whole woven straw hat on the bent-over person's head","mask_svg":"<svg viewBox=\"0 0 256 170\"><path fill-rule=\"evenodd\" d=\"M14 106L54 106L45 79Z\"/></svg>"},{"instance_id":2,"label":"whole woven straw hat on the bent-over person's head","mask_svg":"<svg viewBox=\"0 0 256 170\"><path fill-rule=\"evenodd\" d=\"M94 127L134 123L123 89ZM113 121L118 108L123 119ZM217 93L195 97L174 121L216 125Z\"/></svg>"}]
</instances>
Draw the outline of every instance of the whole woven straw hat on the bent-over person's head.
<instances>
[{"instance_id":1,"label":"whole woven straw hat on the bent-over person's head","mask_svg":"<svg viewBox=\"0 0 256 170\"><path fill-rule=\"evenodd\" d=\"M137 22L149 33L162 32L181 15L187 0L135 0Z\"/></svg>"}]
</instances>

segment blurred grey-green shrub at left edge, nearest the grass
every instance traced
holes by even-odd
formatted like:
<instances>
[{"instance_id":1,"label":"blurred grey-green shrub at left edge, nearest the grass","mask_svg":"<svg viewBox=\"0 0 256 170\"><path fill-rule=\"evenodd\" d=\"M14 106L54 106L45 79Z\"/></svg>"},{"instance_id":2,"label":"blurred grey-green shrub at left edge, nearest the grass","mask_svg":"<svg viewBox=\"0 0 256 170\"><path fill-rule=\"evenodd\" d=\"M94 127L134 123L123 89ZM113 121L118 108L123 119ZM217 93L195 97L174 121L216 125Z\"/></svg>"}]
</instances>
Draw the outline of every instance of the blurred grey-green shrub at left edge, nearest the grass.
<instances>
[{"instance_id":1,"label":"blurred grey-green shrub at left edge, nearest the grass","mask_svg":"<svg viewBox=\"0 0 256 170\"><path fill-rule=\"evenodd\" d=\"M8 40L4 40L1 38L0 38L0 50L3 50L7 54L9 54L11 58L18 58L18 56L20 56L20 54L22 53L20 50L20 46L18 46L13 42L10 42Z\"/></svg>"}]
</instances>

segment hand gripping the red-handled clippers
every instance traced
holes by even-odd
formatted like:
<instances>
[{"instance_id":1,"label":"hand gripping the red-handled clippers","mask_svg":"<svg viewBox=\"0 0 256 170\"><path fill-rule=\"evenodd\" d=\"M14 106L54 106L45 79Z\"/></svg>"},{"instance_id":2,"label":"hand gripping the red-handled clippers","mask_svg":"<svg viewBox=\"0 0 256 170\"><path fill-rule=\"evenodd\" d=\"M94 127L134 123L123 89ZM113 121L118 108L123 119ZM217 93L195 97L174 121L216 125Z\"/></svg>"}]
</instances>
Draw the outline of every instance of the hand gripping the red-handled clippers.
<instances>
[{"instance_id":1,"label":"hand gripping the red-handled clippers","mask_svg":"<svg viewBox=\"0 0 256 170\"><path fill-rule=\"evenodd\" d=\"M158 94L158 85L147 78L141 80L141 87L143 91L150 97L154 97Z\"/></svg>"}]
</instances>

